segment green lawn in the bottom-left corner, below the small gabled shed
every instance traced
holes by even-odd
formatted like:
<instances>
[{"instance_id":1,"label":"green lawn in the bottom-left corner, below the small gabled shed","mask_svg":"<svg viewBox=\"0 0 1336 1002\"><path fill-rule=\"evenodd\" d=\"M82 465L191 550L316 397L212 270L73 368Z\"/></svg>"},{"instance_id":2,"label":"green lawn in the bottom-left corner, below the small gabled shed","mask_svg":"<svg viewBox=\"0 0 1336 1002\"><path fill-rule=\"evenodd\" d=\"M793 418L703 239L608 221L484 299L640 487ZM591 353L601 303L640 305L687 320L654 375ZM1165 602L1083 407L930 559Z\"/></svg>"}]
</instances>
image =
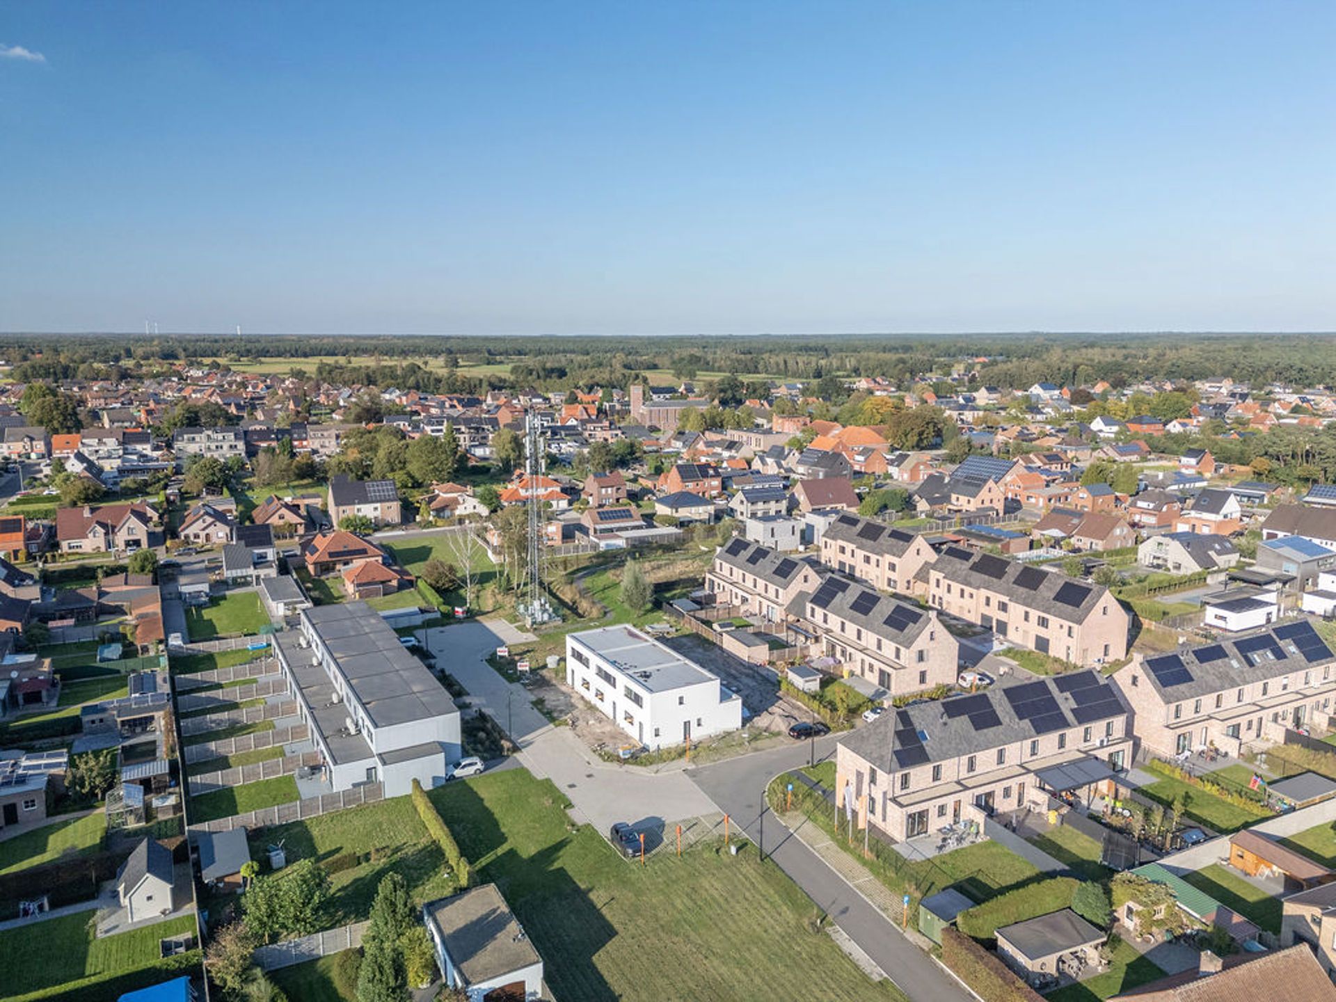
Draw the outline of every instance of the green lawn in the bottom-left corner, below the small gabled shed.
<instances>
[{"instance_id":1,"label":"green lawn in the bottom-left corner, below the small gabled shed","mask_svg":"<svg viewBox=\"0 0 1336 1002\"><path fill-rule=\"evenodd\" d=\"M98 939L91 911L7 929L0 931L4 991L21 995L79 978L110 978L147 967L160 959L159 939L194 931L195 916L186 915Z\"/></svg>"}]
</instances>

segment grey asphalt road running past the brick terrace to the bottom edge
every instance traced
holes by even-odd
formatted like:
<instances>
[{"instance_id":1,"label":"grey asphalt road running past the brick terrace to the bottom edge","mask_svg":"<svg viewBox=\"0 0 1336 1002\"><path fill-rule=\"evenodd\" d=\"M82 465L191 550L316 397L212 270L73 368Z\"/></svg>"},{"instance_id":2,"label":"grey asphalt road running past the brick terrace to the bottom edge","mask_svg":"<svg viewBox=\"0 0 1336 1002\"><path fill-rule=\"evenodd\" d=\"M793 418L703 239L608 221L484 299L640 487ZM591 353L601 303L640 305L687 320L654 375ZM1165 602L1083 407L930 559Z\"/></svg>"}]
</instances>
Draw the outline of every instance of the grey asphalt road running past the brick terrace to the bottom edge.
<instances>
[{"instance_id":1,"label":"grey asphalt road running past the brick terrace to the bottom edge","mask_svg":"<svg viewBox=\"0 0 1336 1002\"><path fill-rule=\"evenodd\" d=\"M816 741L816 760L835 754L835 735ZM786 770L806 766L807 743L744 755L689 770L696 784L762 846L788 876L858 943L912 1002L977 1002L931 957L914 946L880 911L850 887L779 820L766 816L760 840L762 804L770 780Z\"/></svg>"}]
</instances>

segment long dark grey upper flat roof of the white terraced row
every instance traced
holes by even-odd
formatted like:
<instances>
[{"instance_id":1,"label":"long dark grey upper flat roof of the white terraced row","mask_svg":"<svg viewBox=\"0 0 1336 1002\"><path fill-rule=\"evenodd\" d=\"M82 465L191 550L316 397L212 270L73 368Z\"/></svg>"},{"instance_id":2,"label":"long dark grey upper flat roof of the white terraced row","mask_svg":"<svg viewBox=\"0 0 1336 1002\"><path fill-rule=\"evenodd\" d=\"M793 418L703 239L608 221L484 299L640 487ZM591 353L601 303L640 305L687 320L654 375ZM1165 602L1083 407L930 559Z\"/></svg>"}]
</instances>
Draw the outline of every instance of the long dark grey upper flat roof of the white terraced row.
<instances>
[{"instance_id":1,"label":"long dark grey upper flat roof of the white terraced row","mask_svg":"<svg viewBox=\"0 0 1336 1002\"><path fill-rule=\"evenodd\" d=\"M302 611L375 727L457 713L450 693L363 601Z\"/></svg>"}]
</instances>

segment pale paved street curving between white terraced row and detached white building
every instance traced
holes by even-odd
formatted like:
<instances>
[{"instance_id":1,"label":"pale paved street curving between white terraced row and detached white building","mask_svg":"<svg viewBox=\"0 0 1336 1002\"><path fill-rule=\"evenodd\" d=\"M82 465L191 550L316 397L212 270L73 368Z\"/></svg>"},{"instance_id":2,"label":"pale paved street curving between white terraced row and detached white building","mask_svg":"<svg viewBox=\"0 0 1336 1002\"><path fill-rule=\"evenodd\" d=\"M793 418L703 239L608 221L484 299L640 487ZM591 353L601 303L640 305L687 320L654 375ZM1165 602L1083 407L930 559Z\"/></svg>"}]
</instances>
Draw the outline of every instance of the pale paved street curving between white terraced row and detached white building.
<instances>
[{"instance_id":1,"label":"pale paved street curving between white terraced row and detached white building","mask_svg":"<svg viewBox=\"0 0 1336 1002\"><path fill-rule=\"evenodd\" d=\"M514 640L517 631L497 621L458 623L418 631L437 664L468 689L478 707L520 745L520 760L533 775L550 779L570 798L572 816L605 831L613 822L656 828L716 814L708 795L681 770L655 774L604 762L568 727L553 727L533 708L529 691L508 683L484 660Z\"/></svg>"}]
</instances>

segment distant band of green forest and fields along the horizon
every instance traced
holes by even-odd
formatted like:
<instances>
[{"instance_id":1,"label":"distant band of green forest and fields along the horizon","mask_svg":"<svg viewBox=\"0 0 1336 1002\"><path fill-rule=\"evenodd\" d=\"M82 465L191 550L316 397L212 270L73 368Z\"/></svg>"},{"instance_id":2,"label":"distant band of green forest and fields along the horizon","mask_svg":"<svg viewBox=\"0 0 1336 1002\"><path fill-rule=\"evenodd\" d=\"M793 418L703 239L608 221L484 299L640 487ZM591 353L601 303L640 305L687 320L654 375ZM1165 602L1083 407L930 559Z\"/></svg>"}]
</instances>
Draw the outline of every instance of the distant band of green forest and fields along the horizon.
<instances>
[{"instance_id":1,"label":"distant band of green forest and fields along the horizon","mask_svg":"<svg viewBox=\"0 0 1336 1002\"><path fill-rule=\"evenodd\" d=\"M989 361L975 366L973 359ZM1261 387L1336 385L1336 337L1325 334L978 334L762 337L258 337L0 335L13 378L151 374L162 362L291 359L306 378L426 391L566 390L677 379L815 381L880 375L896 383L978 370L977 383L1114 387L1230 375ZM303 359L307 361L303 365ZM331 361L337 359L337 361ZM478 371L477 366L486 366ZM470 371L472 369L472 371ZM827 383L828 385L828 383Z\"/></svg>"}]
</instances>

